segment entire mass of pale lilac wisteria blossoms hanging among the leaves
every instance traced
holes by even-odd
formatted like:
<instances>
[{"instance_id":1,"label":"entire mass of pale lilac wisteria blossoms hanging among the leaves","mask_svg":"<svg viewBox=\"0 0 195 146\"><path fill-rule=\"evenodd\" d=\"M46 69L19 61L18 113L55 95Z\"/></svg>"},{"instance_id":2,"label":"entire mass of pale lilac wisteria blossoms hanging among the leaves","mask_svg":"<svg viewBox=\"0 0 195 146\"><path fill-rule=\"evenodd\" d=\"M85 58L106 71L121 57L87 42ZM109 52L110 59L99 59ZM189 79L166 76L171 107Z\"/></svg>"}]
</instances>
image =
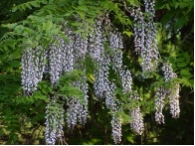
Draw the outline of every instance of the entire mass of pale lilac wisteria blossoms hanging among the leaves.
<instances>
[{"instance_id":1,"label":"entire mass of pale lilac wisteria blossoms hanging among the leaves","mask_svg":"<svg viewBox=\"0 0 195 146\"><path fill-rule=\"evenodd\" d=\"M153 71L158 66L159 51L156 41L156 28L153 21L154 0L144 0L145 12L141 8L133 8L131 16L134 17L134 46L137 55L140 55L142 71ZM81 20L77 20L81 21ZM85 25L86 22L83 22ZM83 27L84 27L83 25ZM99 99L105 99L106 107L112 113L112 138L116 144L122 140L122 120L116 116L120 112L120 102L116 98L115 90L117 85L109 80L109 72L112 69L120 77L123 95L133 93L133 79L130 70L123 66L123 37L122 34L111 25L108 15L95 19L92 30L83 38L81 33L74 33L73 29L63 24L63 33L68 41L55 36L48 49L40 46L31 48L26 44L22 54L22 87L25 96L30 96L37 90L38 83L42 80L43 74L48 70L50 82L56 87L61 75L71 73L73 70L84 69L81 61L86 55L90 56L96 68L94 69L94 95ZM82 27L80 28L82 29ZM107 33L104 33L107 32ZM57 45L58 43L60 45ZM105 49L108 43L110 52ZM47 64L48 63L48 64ZM169 63L164 63L162 67L164 81L168 83L177 78ZM85 72L85 71L84 71ZM83 97L79 99L74 96L67 98L66 123L73 129L78 123L85 124L88 114L88 84L86 76L81 77L81 81L71 83L72 86L82 91ZM164 99L169 99L170 113L173 118L178 118L179 109L179 84L172 85L171 88L159 87L155 95L155 120L157 123L164 123L163 107ZM130 95L131 101L139 101L138 94ZM55 144L56 140L62 140L64 124L64 101L58 103L59 96L49 97L46 107L46 144ZM52 108L51 108L52 107ZM55 110L53 110L53 107ZM144 130L143 115L139 106L131 107L129 115L132 118L130 127L138 134Z\"/></svg>"}]
</instances>

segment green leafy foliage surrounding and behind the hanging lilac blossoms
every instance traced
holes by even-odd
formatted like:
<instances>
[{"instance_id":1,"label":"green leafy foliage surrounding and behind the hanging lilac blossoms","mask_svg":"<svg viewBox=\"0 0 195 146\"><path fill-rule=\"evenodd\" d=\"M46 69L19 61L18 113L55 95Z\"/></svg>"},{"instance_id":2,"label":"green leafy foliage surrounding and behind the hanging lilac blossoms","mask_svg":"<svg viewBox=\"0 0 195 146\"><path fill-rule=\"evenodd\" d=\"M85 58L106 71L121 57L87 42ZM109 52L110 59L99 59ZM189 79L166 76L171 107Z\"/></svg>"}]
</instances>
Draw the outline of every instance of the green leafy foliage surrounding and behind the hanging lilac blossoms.
<instances>
[{"instance_id":1,"label":"green leafy foliage surrounding and behind the hanging lilac blossoms","mask_svg":"<svg viewBox=\"0 0 195 146\"><path fill-rule=\"evenodd\" d=\"M48 97L57 93L62 98L68 95L79 96L78 89L69 82L78 79L75 71L63 76L54 90L47 75L39 83L33 96L23 97L21 87L21 55L23 42L31 47L47 48L52 37L60 35L64 20L75 28L75 32L89 31L90 25L74 21L79 15L83 22L94 23L94 18L109 12L112 24L124 34L123 62L133 77L133 89L141 97L141 110L144 115L145 130L142 136L136 135L127 121L128 112L123 117L121 144L193 144L194 141L194 1L192 0L156 0L154 21L158 30L158 48L161 54L158 72L147 78L142 75L139 58L133 47L133 19L126 8L143 7L143 1L126 0L1 0L0 1L0 144L45 144L45 107ZM57 42L56 42L57 43ZM169 105L164 108L165 124L158 125L154 120L154 95L158 86L163 84L160 71L161 61L169 60L180 83L180 108L178 119L172 119ZM104 101L98 100L93 92L93 68L88 59L87 79L89 84L89 115L86 125L76 125L69 130L64 125L65 139L68 144L113 144L111 139L111 115ZM116 75L111 71L111 78ZM116 81L117 82L117 81ZM125 97L117 88L121 102ZM67 107L64 107L66 109ZM66 116L66 115L65 115Z\"/></svg>"}]
</instances>

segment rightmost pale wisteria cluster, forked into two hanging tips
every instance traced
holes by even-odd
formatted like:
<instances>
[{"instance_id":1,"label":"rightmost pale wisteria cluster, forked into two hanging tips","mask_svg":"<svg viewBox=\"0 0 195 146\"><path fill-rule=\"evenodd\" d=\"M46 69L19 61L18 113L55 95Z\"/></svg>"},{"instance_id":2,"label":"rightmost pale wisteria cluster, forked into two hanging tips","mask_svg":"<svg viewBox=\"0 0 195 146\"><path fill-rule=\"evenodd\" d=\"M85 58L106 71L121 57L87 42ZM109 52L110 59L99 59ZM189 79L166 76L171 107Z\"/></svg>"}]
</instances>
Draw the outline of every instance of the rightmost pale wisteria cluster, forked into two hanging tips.
<instances>
[{"instance_id":1,"label":"rightmost pale wisteria cluster, forked into two hanging tips","mask_svg":"<svg viewBox=\"0 0 195 146\"><path fill-rule=\"evenodd\" d=\"M170 113L173 118L179 118L180 108L179 108L179 84L173 82L172 79L177 78L176 73L173 72L170 63L164 63L162 70L164 72L165 83L170 83L170 87L159 87L157 88L155 95L155 120L157 123L164 123L164 115L162 113L164 107L165 98L169 99Z\"/></svg>"}]
</instances>

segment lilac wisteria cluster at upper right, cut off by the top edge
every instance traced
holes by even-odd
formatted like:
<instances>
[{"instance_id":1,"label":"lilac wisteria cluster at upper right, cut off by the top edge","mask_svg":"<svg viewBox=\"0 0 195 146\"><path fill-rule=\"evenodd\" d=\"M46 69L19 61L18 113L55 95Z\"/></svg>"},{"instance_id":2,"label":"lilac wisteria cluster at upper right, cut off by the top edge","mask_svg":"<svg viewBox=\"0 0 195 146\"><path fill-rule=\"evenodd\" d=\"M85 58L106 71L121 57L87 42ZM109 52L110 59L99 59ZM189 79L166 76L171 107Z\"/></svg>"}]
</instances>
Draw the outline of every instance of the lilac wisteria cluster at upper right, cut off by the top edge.
<instances>
[{"instance_id":1,"label":"lilac wisteria cluster at upper right, cut off by the top edge","mask_svg":"<svg viewBox=\"0 0 195 146\"><path fill-rule=\"evenodd\" d=\"M153 21L155 15L154 0L144 0L146 16L141 8L133 9L135 52L140 54L142 70L152 71L158 65L159 51L157 48L156 28Z\"/></svg>"}]
</instances>

